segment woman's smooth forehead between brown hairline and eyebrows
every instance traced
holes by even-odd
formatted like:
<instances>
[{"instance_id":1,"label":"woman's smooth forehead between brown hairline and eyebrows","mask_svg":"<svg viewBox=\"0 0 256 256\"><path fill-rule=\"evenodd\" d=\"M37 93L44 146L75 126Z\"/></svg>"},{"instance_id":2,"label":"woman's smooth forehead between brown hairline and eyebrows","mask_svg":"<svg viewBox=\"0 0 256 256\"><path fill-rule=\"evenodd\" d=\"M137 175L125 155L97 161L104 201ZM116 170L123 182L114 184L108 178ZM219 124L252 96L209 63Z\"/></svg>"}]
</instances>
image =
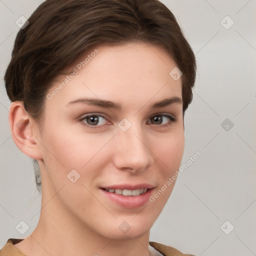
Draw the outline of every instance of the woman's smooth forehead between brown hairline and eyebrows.
<instances>
[{"instance_id":1,"label":"woman's smooth forehead between brown hairline and eyebrows","mask_svg":"<svg viewBox=\"0 0 256 256\"><path fill-rule=\"evenodd\" d=\"M67 76L54 81L48 93L62 86L49 103L63 106L81 96L134 104L181 97L182 81L171 77L173 68L176 63L164 49L146 43L91 48L68 67Z\"/></svg>"}]
</instances>

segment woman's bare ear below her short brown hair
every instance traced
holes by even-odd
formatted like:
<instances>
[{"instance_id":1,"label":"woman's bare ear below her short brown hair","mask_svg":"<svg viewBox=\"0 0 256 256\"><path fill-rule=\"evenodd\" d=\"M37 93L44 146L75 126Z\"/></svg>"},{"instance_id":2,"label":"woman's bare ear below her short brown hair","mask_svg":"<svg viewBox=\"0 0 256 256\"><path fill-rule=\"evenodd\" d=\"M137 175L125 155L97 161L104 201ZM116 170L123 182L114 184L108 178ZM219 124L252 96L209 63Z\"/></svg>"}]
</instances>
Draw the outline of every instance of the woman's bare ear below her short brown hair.
<instances>
[{"instance_id":1,"label":"woman's bare ear below her short brown hair","mask_svg":"<svg viewBox=\"0 0 256 256\"><path fill-rule=\"evenodd\" d=\"M41 159L39 128L26 113L22 101L10 104L9 126L12 139L19 150L33 159Z\"/></svg>"}]
</instances>

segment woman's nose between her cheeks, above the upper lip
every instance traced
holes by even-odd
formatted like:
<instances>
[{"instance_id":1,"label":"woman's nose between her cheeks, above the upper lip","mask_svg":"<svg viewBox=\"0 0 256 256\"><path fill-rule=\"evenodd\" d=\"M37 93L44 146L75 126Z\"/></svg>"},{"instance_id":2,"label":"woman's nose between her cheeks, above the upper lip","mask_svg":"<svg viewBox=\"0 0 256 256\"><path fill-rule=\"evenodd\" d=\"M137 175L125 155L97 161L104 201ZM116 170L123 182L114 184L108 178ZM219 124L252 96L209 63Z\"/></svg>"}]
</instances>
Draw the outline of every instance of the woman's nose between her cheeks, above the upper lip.
<instances>
[{"instance_id":1,"label":"woman's nose between her cheeks, above the upper lip","mask_svg":"<svg viewBox=\"0 0 256 256\"><path fill-rule=\"evenodd\" d=\"M126 131L118 128L114 139L113 161L117 168L140 172L153 163L149 140L140 124L132 124Z\"/></svg>"}]
</instances>

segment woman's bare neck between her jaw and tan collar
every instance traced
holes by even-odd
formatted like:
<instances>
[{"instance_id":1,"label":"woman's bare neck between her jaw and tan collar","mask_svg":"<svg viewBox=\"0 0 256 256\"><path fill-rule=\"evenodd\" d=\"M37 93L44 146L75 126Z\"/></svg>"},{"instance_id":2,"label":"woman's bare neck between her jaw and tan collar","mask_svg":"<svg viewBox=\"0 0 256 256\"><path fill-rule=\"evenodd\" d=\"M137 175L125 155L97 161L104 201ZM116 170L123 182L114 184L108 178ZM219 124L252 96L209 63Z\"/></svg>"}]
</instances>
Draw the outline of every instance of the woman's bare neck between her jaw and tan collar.
<instances>
[{"instance_id":1,"label":"woman's bare neck between her jaw and tan collar","mask_svg":"<svg viewBox=\"0 0 256 256\"><path fill-rule=\"evenodd\" d=\"M51 198L47 196L47 198ZM54 198L54 199L53 199ZM115 239L91 230L54 196L42 196L38 224L30 236L15 245L26 255L37 256L148 256L149 230L139 237ZM152 250L150 249L150 252Z\"/></svg>"}]
</instances>

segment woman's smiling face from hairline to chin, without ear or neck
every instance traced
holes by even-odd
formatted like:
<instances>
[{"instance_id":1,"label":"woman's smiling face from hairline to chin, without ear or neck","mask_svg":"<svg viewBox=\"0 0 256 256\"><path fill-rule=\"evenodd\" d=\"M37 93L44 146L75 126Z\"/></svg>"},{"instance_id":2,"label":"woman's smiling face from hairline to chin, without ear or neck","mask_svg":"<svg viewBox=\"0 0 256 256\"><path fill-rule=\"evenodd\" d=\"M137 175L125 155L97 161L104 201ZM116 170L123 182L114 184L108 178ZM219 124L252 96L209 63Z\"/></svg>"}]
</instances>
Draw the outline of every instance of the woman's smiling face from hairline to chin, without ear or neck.
<instances>
[{"instance_id":1,"label":"woman's smiling face from hairline to chin, without ear or neck","mask_svg":"<svg viewBox=\"0 0 256 256\"><path fill-rule=\"evenodd\" d=\"M109 238L149 230L184 148L175 67L163 49L128 43L92 49L70 67L73 75L58 77L39 138L45 212Z\"/></svg>"}]
</instances>

